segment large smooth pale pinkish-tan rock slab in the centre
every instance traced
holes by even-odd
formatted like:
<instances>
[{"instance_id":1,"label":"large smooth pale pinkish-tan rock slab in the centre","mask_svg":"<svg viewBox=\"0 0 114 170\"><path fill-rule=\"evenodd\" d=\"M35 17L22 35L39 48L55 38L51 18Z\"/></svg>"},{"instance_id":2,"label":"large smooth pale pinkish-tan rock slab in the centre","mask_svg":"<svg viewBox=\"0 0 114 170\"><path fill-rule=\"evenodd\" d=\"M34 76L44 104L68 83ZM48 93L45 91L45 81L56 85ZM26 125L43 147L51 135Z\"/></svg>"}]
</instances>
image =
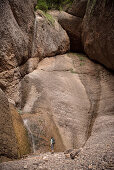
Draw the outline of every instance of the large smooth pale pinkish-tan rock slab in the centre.
<instances>
[{"instance_id":1,"label":"large smooth pale pinkish-tan rock slab in the centre","mask_svg":"<svg viewBox=\"0 0 114 170\"><path fill-rule=\"evenodd\" d=\"M107 74L103 76L106 87L109 83L105 83L105 79L109 74L111 87L107 88L108 93L104 93L102 74ZM100 102L106 105L103 102L106 96L107 102L112 101L113 81L113 75L83 55L66 54L45 58L38 64L37 70L22 80L19 100L15 102L21 104L24 113L34 113L33 117L42 115L44 122L47 120L45 115L51 116L65 149L80 148L91 136L97 116L101 113L105 116L104 105L100 107ZM110 112L113 112L113 103L106 107L106 113ZM50 132L47 136L50 136Z\"/></svg>"}]
</instances>

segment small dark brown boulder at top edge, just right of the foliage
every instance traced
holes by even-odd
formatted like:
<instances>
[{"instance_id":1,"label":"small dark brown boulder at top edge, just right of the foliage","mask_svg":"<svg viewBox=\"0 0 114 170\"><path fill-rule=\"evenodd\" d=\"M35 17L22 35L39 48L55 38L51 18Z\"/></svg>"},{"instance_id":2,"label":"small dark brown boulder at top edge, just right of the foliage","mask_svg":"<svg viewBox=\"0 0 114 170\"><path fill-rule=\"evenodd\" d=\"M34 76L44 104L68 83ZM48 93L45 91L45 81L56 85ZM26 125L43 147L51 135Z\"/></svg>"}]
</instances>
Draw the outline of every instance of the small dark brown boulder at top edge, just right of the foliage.
<instances>
[{"instance_id":1,"label":"small dark brown boulder at top edge, just right of the foliage","mask_svg":"<svg viewBox=\"0 0 114 170\"><path fill-rule=\"evenodd\" d=\"M87 0L74 0L72 5L67 9L71 15L83 18L86 12Z\"/></svg>"}]
</instances>

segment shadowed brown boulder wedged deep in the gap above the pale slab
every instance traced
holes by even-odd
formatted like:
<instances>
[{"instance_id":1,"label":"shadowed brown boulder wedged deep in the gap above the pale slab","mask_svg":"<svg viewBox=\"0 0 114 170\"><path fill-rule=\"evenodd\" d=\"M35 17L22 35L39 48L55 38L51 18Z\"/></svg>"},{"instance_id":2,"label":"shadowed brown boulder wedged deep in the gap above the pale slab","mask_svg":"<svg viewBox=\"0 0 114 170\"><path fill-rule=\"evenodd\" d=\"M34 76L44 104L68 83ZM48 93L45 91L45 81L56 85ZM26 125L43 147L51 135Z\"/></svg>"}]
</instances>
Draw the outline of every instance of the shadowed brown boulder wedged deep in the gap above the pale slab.
<instances>
[{"instance_id":1,"label":"shadowed brown boulder wedged deep in the gap above the pale slab","mask_svg":"<svg viewBox=\"0 0 114 170\"><path fill-rule=\"evenodd\" d=\"M54 16L60 25L66 30L70 38L71 51L82 52L83 46L81 42L81 24L82 19L73 15L70 15L64 11L50 11L50 14Z\"/></svg>"}]
</instances>

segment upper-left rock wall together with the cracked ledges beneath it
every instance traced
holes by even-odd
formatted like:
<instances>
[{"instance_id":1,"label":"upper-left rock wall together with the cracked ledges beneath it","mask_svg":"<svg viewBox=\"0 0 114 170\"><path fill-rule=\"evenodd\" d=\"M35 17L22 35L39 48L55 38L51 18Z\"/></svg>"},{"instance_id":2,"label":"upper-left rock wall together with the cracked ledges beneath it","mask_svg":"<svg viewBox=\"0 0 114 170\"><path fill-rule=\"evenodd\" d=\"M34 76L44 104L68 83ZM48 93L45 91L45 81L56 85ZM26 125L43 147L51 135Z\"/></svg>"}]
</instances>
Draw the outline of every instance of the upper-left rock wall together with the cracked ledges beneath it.
<instances>
[{"instance_id":1,"label":"upper-left rock wall together with the cracked ledges beneath it","mask_svg":"<svg viewBox=\"0 0 114 170\"><path fill-rule=\"evenodd\" d=\"M0 87L6 93L10 92L9 96L24 74L37 67L38 59L29 59L32 55L35 4L36 0L0 1Z\"/></svg>"}]
</instances>

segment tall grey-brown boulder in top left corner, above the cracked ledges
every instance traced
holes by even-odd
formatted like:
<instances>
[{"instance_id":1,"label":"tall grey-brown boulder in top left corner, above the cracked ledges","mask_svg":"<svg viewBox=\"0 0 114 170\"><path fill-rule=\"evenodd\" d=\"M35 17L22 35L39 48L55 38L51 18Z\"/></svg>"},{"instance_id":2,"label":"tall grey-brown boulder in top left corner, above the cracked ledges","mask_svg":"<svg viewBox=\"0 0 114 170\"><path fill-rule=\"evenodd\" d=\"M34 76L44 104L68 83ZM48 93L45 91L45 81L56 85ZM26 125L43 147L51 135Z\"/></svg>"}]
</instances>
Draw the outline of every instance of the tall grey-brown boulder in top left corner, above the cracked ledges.
<instances>
[{"instance_id":1,"label":"tall grey-brown boulder in top left corner, above the cracked ledges","mask_svg":"<svg viewBox=\"0 0 114 170\"><path fill-rule=\"evenodd\" d=\"M34 3L0 1L0 72L13 69L31 56Z\"/></svg>"}]
</instances>

